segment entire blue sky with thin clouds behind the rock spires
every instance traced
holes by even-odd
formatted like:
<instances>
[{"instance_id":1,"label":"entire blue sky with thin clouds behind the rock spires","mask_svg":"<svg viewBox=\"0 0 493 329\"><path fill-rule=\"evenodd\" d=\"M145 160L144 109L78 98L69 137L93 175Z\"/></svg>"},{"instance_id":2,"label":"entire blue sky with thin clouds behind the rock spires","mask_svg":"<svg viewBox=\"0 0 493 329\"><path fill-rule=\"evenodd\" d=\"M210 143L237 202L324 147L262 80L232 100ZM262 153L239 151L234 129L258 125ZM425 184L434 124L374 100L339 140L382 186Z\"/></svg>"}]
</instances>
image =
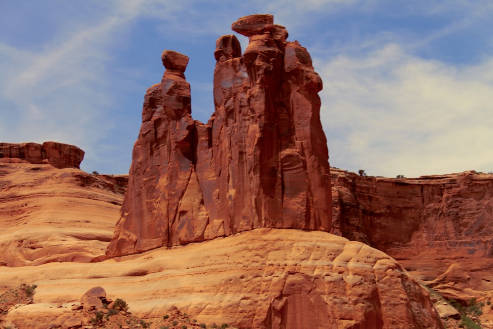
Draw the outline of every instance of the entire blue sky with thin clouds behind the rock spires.
<instances>
[{"instance_id":1,"label":"entire blue sky with thin clouds behind the rock spires","mask_svg":"<svg viewBox=\"0 0 493 329\"><path fill-rule=\"evenodd\" d=\"M0 142L68 143L81 169L128 173L161 52L190 57L192 115L207 122L215 40L254 13L312 55L332 166L493 171L491 0L0 0Z\"/></svg>"}]
</instances>

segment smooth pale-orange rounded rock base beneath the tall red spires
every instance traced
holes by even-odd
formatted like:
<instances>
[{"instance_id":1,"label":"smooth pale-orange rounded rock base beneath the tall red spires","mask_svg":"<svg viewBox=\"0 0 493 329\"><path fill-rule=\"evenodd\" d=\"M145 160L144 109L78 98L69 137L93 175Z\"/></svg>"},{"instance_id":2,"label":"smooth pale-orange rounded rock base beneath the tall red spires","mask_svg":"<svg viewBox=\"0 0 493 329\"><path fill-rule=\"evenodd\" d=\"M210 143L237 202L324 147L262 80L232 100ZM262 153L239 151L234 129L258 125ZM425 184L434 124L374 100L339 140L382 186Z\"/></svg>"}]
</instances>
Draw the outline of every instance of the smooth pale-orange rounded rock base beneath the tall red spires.
<instances>
[{"instance_id":1,"label":"smooth pale-orange rounded rock base beneath the tall red spires","mask_svg":"<svg viewBox=\"0 0 493 329\"><path fill-rule=\"evenodd\" d=\"M0 278L37 283L35 303L7 315L19 328L46 328L60 300L94 286L141 318L176 306L198 323L239 328L443 328L427 290L395 260L321 231L261 228L90 265L0 267Z\"/></svg>"}]
</instances>

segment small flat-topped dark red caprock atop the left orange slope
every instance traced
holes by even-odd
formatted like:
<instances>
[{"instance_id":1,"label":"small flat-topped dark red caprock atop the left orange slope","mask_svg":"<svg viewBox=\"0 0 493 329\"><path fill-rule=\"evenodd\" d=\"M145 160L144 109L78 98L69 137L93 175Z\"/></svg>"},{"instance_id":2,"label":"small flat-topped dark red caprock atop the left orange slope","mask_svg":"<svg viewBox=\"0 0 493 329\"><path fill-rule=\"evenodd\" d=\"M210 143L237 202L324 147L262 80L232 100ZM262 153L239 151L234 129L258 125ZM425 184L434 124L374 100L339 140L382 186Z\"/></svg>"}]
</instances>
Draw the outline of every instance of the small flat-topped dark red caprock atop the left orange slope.
<instances>
[{"instance_id":1,"label":"small flat-topped dark red caprock atop the left orange slope","mask_svg":"<svg viewBox=\"0 0 493 329\"><path fill-rule=\"evenodd\" d=\"M0 143L0 162L50 164L55 168L77 168L84 151L77 146L57 142Z\"/></svg>"}]
</instances>

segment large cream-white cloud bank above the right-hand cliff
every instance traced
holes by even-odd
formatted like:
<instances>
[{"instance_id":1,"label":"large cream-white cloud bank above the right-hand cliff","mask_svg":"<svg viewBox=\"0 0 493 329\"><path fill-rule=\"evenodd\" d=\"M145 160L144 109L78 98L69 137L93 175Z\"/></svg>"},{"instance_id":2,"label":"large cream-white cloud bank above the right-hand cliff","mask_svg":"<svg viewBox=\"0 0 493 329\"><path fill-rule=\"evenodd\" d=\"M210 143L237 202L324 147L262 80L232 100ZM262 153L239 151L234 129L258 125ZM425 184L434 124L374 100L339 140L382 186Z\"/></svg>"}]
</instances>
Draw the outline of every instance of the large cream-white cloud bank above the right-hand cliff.
<instances>
[{"instance_id":1,"label":"large cream-white cloud bank above the right-hand cliff","mask_svg":"<svg viewBox=\"0 0 493 329\"><path fill-rule=\"evenodd\" d=\"M389 177L493 170L492 63L452 66L395 44L317 59L331 164Z\"/></svg>"}]
</instances>

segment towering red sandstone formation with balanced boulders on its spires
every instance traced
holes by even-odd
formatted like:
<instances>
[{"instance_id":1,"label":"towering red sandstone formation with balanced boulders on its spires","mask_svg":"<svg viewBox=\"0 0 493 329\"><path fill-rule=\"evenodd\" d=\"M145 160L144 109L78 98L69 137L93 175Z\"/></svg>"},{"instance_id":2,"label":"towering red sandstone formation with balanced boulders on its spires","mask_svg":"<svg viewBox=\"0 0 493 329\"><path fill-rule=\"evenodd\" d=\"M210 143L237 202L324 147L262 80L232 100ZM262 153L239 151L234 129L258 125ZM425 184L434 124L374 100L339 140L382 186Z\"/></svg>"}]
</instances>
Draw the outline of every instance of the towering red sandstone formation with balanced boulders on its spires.
<instances>
[{"instance_id":1,"label":"towering red sandstone formation with balanced boulders on its spires","mask_svg":"<svg viewBox=\"0 0 493 329\"><path fill-rule=\"evenodd\" d=\"M191 117L185 55L165 51L147 90L121 219L108 256L259 227L330 230L322 82L310 55L272 15L246 16L214 56L215 112Z\"/></svg>"}]
</instances>

